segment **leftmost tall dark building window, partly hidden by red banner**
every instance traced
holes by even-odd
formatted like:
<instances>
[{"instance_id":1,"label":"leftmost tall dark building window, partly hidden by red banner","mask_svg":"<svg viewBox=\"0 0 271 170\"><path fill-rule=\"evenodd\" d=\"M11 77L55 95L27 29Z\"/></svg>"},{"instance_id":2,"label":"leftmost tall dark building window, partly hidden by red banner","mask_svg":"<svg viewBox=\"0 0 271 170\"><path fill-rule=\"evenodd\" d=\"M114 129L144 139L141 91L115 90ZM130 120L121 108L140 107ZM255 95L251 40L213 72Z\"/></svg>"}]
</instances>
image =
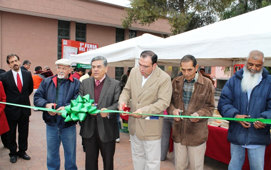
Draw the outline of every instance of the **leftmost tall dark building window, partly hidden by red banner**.
<instances>
[{"instance_id":1,"label":"leftmost tall dark building window, partly hidden by red banner","mask_svg":"<svg viewBox=\"0 0 271 170\"><path fill-rule=\"evenodd\" d=\"M62 39L69 40L69 21L58 20L58 59L61 59Z\"/></svg>"}]
</instances>

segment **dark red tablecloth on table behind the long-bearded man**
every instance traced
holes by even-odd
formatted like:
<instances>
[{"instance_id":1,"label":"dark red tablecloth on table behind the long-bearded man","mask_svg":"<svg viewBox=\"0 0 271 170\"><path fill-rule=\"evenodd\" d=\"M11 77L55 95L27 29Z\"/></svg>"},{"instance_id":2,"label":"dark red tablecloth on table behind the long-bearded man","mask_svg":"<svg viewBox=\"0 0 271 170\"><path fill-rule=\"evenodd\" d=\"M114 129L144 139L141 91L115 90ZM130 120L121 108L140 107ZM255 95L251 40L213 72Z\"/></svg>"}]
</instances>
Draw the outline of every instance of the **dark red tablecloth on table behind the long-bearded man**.
<instances>
[{"instance_id":1,"label":"dark red tablecloth on table behind the long-bearded man","mask_svg":"<svg viewBox=\"0 0 271 170\"><path fill-rule=\"evenodd\" d=\"M231 160L231 146L227 140L228 129L222 127L208 126L209 134L206 142L205 155L217 161L229 164ZM267 146L265 153L265 170L271 168L271 145ZM249 170L248 157L246 158L242 170Z\"/></svg>"}]
</instances>

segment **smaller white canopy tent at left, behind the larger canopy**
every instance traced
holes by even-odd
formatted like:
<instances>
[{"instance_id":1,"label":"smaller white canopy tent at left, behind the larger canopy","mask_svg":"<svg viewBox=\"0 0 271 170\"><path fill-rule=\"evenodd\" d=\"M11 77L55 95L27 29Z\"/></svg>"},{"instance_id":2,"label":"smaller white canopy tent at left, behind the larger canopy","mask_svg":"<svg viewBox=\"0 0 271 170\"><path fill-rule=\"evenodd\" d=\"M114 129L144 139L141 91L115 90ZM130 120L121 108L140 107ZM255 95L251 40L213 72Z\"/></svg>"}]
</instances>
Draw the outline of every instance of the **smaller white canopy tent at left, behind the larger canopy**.
<instances>
[{"instance_id":1,"label":"smaller white canopy tent at left, behind the larger canopy","mask_svg":"<svg viewBox=\"0 0 271 170\"><path fill-rule=\"evenodd\" d=\"M151 34L143 34L123 42L113 43L95 50L87 51L77 55L70 55L70 59L74 63L90 64L90 61L95 56L103 56L108 62L108 66L113 67L134 67L135 56L138 53L138 44L145 44L150 42L160 42L164 40L161 37L153 36ZM140 55L140 52L139 54ZM138 56L139 58L139 56Z\"/></svg>"}]
</instances>

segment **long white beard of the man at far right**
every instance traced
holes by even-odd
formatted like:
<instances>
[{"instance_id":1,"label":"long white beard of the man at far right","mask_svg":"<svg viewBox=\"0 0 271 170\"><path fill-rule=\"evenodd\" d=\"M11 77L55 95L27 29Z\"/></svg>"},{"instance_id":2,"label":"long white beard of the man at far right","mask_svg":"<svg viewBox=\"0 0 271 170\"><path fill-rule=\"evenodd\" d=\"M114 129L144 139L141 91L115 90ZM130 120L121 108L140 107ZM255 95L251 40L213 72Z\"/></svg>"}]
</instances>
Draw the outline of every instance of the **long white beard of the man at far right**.
<instances>
[{"instance_id":1,"label":"long white beard of the man at far right","mask_svg":"<svg viewBox=\"0 0 271 170\"><path fill-rule=\"evenodd\" d=\"M263 73L263 68L260 72L251 74L249 70L247 70L246 65L243 67L244 74L241 82L241 87L243 92L247 92L248 90L252 90L257 84Z\"/></svg>"}]
</instances>

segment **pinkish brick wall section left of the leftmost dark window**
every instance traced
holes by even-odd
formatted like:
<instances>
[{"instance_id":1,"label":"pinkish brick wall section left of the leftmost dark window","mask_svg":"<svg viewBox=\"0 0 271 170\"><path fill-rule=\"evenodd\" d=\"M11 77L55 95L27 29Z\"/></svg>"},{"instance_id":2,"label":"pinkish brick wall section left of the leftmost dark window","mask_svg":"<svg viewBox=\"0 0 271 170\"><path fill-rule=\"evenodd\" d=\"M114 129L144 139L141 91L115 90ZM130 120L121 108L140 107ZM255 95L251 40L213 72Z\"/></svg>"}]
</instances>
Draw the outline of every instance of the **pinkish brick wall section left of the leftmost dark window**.
<instances>
[{"instance_id":1,"label":"pinkish brick wall section left of the leftmost dark window","mask_svg":"<svg viewBox=\"0 0 271 170\"><path fill-rule=\"evenodd\" d=\"M1 68L10 68L6 56L15 53L20 62L29 60L34 67L55 67L58 20L1 11ZM53 73L56 71L53 70Z\"/></svg>"}]
</instances>

